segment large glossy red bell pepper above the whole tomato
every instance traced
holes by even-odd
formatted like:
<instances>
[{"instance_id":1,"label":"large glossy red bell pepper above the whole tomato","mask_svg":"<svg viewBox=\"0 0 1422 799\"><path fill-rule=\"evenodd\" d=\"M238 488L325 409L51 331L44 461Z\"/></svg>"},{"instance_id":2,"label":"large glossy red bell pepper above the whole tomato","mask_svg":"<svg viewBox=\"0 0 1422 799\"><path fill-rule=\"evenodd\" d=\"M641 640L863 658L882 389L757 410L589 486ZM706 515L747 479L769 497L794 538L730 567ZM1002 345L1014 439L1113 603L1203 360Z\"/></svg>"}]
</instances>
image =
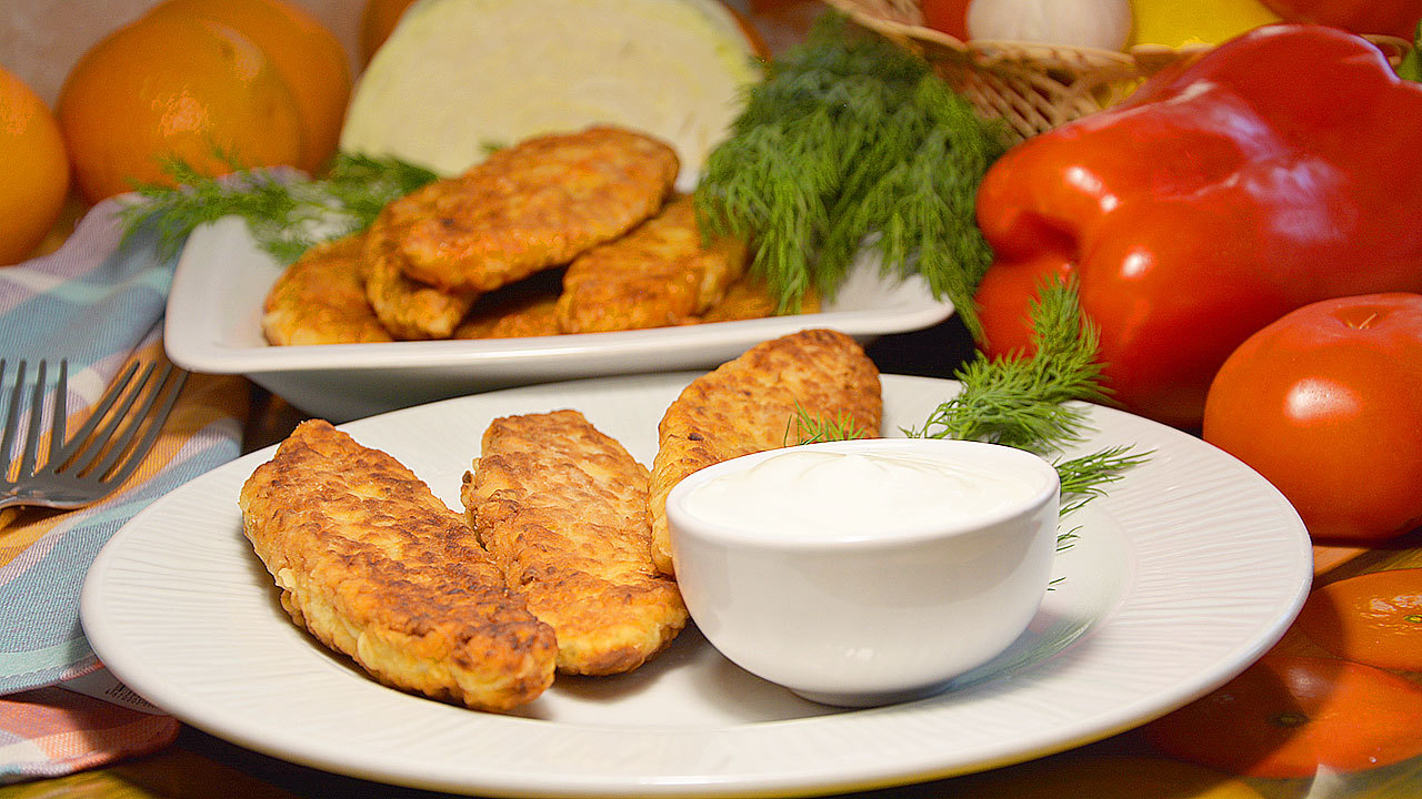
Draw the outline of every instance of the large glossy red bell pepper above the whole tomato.
<instances>
[{"instance_id":1,"label":"large glossy red bell pepper above the whole tomato","mask_svg":"<svg viewBox=\"0 0 1422 799\"><path fill-rule=\"evenodd\" d=\"M1028 347L1038 286L1074 276L1116 400L1194 428L1256 330L1422 291L1422 84L1345 31L1257 28L1008 151L977 218L987 354Z\"/></svg>"}]
</instances>

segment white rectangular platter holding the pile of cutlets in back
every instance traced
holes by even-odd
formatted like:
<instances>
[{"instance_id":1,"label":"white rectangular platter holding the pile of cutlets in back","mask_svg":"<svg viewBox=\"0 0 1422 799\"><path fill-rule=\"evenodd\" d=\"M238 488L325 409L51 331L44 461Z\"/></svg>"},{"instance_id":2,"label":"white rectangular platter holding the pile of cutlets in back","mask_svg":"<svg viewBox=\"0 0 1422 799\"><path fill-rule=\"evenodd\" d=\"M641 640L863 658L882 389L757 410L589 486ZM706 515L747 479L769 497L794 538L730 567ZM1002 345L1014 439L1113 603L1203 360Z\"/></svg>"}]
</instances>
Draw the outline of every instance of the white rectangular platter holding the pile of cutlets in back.
<instances>
[{"instance_id":1,"label":"white rectangular platter holding the pile of cutlets in back","mask_svg":"<svg viewBox=\"0 0 1422 799\"><path fill-rule=\"evenodd\" d=\"M273 347L262 337L262 303L282 269L239 218L195 230L168 296L168 357L202 374L243 374L337 422L513 385L712 368L761 341L812 327L867 343L953 314L953 304L934 299L920 277L884 276L865 256L813 314L529 338Z\"/></svg>"}]
</instances>

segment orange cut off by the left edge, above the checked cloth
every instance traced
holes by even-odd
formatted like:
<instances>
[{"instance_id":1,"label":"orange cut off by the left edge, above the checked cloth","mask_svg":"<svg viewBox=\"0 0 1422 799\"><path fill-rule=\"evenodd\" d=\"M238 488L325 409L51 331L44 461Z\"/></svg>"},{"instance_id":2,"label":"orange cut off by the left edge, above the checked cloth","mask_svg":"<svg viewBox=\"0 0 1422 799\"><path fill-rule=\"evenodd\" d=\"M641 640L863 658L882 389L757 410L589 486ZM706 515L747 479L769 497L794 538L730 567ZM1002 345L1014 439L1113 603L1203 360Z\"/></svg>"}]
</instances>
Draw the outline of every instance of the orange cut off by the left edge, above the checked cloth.
<instances>
[{"instance_id":1,"label":"orange cut off by the left edge, above the checked cloth","mask_svg":"<svg viewBox=\"0 0 1422 799\"><path fill-rule=\"evenodd\" d=\"M24 260L64 208L70 165L60 127L28 85L0 67L0 264Z\"/></svg>"}]
</instances>

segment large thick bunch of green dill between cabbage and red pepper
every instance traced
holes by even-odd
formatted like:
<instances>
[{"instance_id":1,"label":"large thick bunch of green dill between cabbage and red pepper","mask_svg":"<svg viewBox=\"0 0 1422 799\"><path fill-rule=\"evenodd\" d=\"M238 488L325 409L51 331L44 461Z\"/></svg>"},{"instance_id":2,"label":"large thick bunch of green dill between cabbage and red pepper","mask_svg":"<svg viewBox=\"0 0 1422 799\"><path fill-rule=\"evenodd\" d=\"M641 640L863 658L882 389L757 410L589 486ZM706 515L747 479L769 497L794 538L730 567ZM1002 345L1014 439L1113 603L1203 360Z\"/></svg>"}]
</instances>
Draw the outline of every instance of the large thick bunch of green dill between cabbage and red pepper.
<instances>
[{"instance_id":1,"label":"large thick bunch of green dill between cabbage and red pepper","mask_svg":"<svg viewBox=\"0 0 1422 799\"><path fill-rule=\"evenodd\" d=\"M971 294L991 252L973 203L1003 149L1000 128L923 60L829 11L748 90L697 210L708 232L752 242L781 313L809 289L833 297L869 246L977 331Z\"/></svg>"}]
</instances>

